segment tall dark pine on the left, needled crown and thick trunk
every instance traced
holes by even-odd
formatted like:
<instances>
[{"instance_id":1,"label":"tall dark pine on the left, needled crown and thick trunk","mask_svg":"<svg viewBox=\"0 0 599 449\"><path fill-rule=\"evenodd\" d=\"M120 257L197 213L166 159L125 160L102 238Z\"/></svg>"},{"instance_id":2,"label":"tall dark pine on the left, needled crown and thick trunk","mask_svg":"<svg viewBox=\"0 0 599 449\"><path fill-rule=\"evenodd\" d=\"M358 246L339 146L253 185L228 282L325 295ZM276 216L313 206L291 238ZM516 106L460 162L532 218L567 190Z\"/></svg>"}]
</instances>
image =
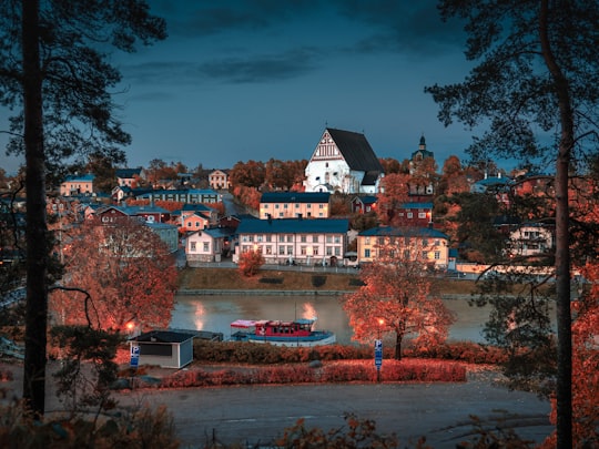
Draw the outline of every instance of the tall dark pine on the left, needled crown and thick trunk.
<instances>
[{"instance_id":1,"label":"tall dark pine on the left, needled crown and thick trunk","mask_svg":"<svg viewBox=\"0 0 599 449\"><path fill-rule=\"evenodd\" d=\"M45 395L48 282L45 175L67 157L101 151L115 159L130 136L112 115L120 81L108 44L132 52L165 38L164 21L143 1L0 1L0 102L11 119L9 151L24 153L27 313L23 397L42 415ZM99 50L101 49L101 50Z\"/></svg>"}]
</instances>

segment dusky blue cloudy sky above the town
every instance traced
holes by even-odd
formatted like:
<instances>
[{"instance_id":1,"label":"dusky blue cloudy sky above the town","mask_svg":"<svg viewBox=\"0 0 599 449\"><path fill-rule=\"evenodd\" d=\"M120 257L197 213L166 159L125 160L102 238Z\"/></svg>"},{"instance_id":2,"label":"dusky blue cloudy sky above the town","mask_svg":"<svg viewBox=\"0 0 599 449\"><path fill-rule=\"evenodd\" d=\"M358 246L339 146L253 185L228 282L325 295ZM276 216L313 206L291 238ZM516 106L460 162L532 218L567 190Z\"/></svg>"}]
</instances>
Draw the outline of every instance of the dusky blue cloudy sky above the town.
<instances>
[{"instance_id":1,"label":"dusky blue cloudy sky above the town","mask_svg":"<svg viewBox=\"0 0 599 449\"><path fill-rule=\"evenodd\" d=\"M149 3L169 38L111 59L131 167L309 160L327 126L364 133L378 157L408 159L424 135L439 169L467 160L473 132L445 127L424 93L469 68L461 25L441 22L435 0ZM2 159L9 173L21 162Z\"/></svg>"}]
</instances>

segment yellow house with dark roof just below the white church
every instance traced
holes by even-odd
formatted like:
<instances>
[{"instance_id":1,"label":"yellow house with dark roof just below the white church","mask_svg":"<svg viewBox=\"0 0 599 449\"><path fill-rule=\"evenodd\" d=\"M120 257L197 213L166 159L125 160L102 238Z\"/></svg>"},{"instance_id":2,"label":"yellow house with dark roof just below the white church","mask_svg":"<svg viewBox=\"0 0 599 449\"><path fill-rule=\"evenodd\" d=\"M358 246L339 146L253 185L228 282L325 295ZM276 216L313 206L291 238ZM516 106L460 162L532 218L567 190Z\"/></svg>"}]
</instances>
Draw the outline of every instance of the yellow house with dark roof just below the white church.
<instances>
[{"instance_id":1,"label":"yellow house with dark roof just below the white church","mask_svg":"<svg viewBox=\"0 0 599 449\"><path fill-rule=\"evenodd\" d=\"M260 218L328 218L328 192L268 192L260 198Z\"/></svg>"}]
</instances>

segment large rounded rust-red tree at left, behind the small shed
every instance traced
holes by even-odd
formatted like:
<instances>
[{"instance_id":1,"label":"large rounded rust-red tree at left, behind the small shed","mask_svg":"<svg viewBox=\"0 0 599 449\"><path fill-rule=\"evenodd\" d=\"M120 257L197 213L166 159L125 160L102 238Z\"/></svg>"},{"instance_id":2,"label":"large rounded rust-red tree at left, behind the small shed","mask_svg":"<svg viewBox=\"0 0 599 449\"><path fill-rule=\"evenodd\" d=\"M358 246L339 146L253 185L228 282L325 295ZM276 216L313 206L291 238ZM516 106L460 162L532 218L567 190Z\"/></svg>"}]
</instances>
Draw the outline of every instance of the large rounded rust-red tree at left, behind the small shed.
<instances>
[{"instance_id":1,"label":"large rounded rust-red tree at left, behind the small shed","mask_svg":"<svg viewBox=\"0 0 599 449\"><path fill-rule=\"evenodd\" d=\"M116 225L84 223L71 236L62 285L89 292L55 289L50 310L60 325L87 325L125 333L165 328L171 322L176 268L160 237L145 224L123 217Z\"/></svg>"}]
</instances>

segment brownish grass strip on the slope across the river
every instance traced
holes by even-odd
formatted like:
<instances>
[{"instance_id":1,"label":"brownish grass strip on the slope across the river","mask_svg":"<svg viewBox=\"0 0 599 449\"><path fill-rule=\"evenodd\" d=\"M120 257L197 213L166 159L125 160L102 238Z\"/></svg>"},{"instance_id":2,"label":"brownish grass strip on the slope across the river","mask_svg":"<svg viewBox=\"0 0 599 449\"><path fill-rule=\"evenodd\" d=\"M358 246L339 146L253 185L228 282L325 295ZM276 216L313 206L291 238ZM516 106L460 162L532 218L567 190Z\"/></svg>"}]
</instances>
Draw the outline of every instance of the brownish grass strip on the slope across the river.
<instances>
[{"instance_id":1,"label":"brownish grass strip on the slope across the river","mask_svg":"<svg viewBox=\"0 0 599 449\"><path fill-rule=\"evenodd\" d=\"M436 290L446 295L469 295L471 280L435 279ZM244 277L235 268L184 268L180 272L180 289L261 289L261 290L335 290L359 287L358 273L318 273L300 271L261 271Z\"/></svg>"}]
</instances>

